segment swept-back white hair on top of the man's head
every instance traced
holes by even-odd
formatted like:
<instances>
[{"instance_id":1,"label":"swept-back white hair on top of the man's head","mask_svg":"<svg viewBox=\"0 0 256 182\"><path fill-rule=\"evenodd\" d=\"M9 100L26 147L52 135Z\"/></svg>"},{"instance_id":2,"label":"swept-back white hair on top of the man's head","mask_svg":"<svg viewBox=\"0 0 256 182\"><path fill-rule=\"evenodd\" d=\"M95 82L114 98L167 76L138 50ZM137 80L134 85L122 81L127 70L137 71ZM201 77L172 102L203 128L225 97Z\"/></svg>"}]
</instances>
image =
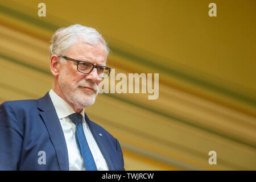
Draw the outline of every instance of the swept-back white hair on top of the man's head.
<instances>
[{"instance_id":1,"label":"swept-back white hair on top of the man's head","mask_svg":"<svg viewBox=\"0 0 256 182\"><path fill-rule=\"evenodd\" d=\"M102 35L94 28L73 24L66 28L59 28L51 38L50 57L52 55L64 56L65 53L80 39L88 44L102 43L105 47L106 56L109 55L109 47Z\"/></svg>"}]
</instances>

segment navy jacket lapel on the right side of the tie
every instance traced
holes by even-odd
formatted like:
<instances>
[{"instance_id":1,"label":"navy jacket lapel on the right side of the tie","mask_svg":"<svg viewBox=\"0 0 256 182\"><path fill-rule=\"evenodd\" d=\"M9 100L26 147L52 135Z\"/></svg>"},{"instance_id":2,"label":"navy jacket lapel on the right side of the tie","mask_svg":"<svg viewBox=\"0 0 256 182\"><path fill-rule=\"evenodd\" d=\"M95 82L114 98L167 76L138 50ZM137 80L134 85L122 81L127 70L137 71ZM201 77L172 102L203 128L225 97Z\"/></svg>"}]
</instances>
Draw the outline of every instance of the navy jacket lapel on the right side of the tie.
<instances>
[{"instance_id":1,"label":"navy jacket lapel on the right side of the tie","mask_svg":"<svg viewBox=\"0 0 256 182\"><path fill-rule=\"evenodd\" d=\"M105 146L105 139L104 139L104 135L100 136L100 133L103 133L100 130L97 130L96 127L93 127L92 125L92 121L90 121L90 119L88 118L88 116L85 114L85 120L88 123L88 126L90 128L90 131L93 134L94 139L96 140L97 144L98 144L98 148L100 148L101 154L104 156L104 159L106 160L106 163L108 164L109 167L109 171L113 171L114 170L114 164L112 162L112 160L110 159L110 155L109 155L109 150L106 150L106 148L108 148L108 146Z\"/></svg>"}]
</instances>

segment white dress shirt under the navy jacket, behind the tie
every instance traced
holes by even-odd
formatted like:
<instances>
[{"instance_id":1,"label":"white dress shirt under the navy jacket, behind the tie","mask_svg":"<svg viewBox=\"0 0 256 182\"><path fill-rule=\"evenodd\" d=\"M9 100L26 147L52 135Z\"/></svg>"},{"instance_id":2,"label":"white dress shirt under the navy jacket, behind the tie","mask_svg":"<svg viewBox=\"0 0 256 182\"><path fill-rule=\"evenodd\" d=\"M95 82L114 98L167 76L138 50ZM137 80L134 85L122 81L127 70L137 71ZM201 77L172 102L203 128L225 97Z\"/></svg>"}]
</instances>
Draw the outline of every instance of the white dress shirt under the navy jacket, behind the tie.
<instances>
[{"instance_id":1,"label":"white dress shirt under the navy jacket, behind the tie","mask_svg":"<svg viewBox=\"0 0 256 182\"><path fill-rule=\"evenodd\" d=\"M51 97L52 103L55 107L66 140L68 148L69 170L85 170L84 160L82 159L82 156L76 144L76 125L68 117L70 114L76 112L72 109L71 106L67 104L67 102L63 100L63 98L58 96L52 89L49 91L49 96ZM109 170L108 164L106 163L104 156L101 154L100 148L98 148L98 145L92 135L92 132L89 129L89 126L85 122L84 109L82 109L80 114L82 114L82 127L84 129L84 134L88 142L90 151L92 152L98 171Z\"/></svg>"}]
</instances>

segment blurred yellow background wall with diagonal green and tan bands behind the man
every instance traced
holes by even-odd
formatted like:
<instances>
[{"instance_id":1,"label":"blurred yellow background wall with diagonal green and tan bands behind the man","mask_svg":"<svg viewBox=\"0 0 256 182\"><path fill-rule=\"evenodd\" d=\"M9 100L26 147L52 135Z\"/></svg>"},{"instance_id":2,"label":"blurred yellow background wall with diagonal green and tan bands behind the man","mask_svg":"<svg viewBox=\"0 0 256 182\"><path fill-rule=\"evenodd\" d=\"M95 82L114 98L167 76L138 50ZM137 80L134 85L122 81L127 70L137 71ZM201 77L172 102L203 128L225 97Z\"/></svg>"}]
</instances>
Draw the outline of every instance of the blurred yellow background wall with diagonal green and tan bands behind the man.
<instances>
[{"instance_id":1,"label":"blurred yellow background wall with diagonal green and tan bands behind the man","mask_svg":"<svg viewBox=\"0 0 256 182\"><path fill-rule=\"evenodd\" d=\"M38 16L41 2L46 17ZM119 140L126 170L255 170L255 7L254 0L0 1L0 103L51 89L49 40L79 23L104 35L116 74L159 73L156 100L99 94L85 109Z\"/></svg>"}]
</instances>

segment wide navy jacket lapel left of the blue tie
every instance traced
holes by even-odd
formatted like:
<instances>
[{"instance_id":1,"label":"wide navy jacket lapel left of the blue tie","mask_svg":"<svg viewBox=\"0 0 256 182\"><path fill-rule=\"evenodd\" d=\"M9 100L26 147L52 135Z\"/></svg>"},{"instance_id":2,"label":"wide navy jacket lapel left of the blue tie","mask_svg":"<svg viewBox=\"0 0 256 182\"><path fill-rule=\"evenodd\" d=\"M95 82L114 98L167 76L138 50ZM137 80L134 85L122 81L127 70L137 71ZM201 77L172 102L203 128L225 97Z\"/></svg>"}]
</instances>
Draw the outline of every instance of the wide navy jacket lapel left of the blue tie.
<instances>
[{"instance_id":1,"label":"wide navy jacket lapel left of the blue tie","mask_svg":"<svg viewBox=\"0 0 256 182\"><path fill-rule=\"evenodd\" d=\"M61 170L68 171L69 163L67 145L59 118L57 117L57 113L52 104L51 98L49 97L49 93L39 99L38 108L40 109L39 113L42 116L53 147L55 148L59 167Z\"/></svg>"}]
</instances>

